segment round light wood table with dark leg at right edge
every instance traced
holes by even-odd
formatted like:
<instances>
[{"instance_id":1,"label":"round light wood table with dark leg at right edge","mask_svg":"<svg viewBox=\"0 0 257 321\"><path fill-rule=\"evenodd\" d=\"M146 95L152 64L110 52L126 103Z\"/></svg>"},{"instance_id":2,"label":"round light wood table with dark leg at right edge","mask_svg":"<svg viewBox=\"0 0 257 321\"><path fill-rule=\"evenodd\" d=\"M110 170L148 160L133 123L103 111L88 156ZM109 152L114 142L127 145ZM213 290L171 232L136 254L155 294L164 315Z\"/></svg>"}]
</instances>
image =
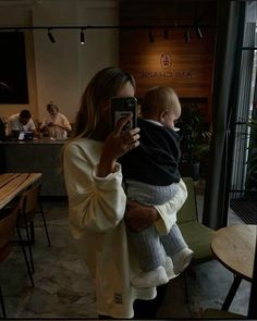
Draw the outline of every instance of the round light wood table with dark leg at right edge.
<instances>
[{"instance_id":1,"label":"round light wood table with dark leg at right edge","mask_svg":"<svg viewBox=\"0 0 257 321\"><path fill-rule=\"evenodd\" d=\"M234 273L234 282L227 295L222 310L228 310L241 281L253 279L257 225L232 225L213 233L211 249L215 257Z\"/></svg>"}]
</instances>

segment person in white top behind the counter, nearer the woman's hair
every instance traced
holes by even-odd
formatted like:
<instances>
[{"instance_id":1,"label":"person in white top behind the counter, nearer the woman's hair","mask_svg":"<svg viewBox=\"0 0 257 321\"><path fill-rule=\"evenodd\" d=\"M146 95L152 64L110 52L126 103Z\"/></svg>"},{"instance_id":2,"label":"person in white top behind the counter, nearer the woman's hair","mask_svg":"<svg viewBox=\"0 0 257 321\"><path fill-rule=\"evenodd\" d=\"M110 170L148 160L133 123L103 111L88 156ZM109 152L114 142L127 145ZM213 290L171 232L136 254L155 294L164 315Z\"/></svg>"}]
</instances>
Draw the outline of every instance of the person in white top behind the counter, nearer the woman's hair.
<instances>
[{"instance_id":1,"label":"person in white top behind the counter, nearer the woman's hair","mask_svg":"<svg viewBox=\"0 0 257 321\"><path fill-rule=\"evenodd\" d=\"M68 119L52 101L47 104L47 111L49 115L42 121L40 132L52 138L66 139L68 132L72 129Z\"/></svg>"}]
</instances>

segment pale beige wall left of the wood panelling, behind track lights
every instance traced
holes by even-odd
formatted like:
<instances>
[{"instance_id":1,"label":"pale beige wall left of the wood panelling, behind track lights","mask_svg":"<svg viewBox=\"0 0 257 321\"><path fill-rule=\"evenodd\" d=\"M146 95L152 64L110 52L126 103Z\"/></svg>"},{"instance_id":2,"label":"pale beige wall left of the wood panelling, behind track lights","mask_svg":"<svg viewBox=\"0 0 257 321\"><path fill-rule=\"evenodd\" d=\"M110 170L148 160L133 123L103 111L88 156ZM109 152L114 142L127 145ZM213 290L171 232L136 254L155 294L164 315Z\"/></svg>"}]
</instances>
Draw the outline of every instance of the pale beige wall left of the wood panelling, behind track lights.
<instances>
[{"instance_id":1,"label":"pale beige wall left of the wood panelling, behind track lights","mask_svg":"<svg viewBox=\"0 0 257 321\"><path fill-rule=\"evenodd\" d=\"M23 20L19 24L24 26L28 23L33 26L118 25L119 21L119 1L112 0L40 0L30 7L28 1L21 0L19 10L1 7L1 2L0 26L4 25L2 17L7 17L7 13L5 25L7 21L9 25L16 25L13 17L20 16L21 12ZM23 2L26 5L21 10ZM79 29L52 30L54 44L48 39L47 30L34 29L33 34L35 66L29 62L27 67L35 69L35 84L29 84L29 91L37 94L38 119L42 120L47 113L46 104L53 100L74 122L81 94L90 77L105 66L118 64L118 30L86 30L85 45L79 44ZM3 106L1 109L7 113Z\"/></svg>"}]
</instances>

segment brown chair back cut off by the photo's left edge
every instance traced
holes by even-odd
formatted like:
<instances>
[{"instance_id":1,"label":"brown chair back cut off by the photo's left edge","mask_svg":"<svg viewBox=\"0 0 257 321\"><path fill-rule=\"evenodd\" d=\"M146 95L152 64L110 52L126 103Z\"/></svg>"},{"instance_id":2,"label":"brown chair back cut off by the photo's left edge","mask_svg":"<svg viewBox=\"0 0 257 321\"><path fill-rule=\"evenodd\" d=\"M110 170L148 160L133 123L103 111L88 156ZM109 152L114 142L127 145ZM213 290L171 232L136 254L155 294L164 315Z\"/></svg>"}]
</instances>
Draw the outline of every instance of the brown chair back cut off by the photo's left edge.
<instances>
[{"instance_id":1,"label":"brown chair back cut off by the photo's left edge","mask_svg":"<svg viewBox=\"0 0 257 321\"><path fill-rule=\"evenodd\" d=\"M10 213L0 219L0 262L2 262L10 252L11 240L15 231L19 206Z\"/></svg>"}]
</instances>

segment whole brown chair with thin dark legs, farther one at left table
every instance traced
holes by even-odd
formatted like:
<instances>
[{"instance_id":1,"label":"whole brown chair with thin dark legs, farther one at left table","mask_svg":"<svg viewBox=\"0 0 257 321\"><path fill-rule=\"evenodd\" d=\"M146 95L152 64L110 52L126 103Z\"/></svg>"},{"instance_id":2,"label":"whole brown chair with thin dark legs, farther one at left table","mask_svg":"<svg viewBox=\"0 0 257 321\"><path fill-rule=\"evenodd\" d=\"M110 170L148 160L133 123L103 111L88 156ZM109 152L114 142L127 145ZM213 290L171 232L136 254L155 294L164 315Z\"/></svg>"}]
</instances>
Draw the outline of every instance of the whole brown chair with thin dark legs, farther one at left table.
<instances>
[{"instance_id":1,"label":"whole brown chair with thin dark legs, farther one at left table","mask_svg":"<svg viewBox=\"0 0 257 321\"><path fill-rule=\"evenodd\" d=\"M28 252L33 273L35 272L32 251L32 246L35 244L34 219L38 209L42 218L48 246L51 246L44 210L39 201L40 188L41 185L38 184L23 193L20 199L20 212L17 215L17 229L20 230L21 227L24 227L26 231L26 244L28 245Z\"/></svg>"}]
</instances>

